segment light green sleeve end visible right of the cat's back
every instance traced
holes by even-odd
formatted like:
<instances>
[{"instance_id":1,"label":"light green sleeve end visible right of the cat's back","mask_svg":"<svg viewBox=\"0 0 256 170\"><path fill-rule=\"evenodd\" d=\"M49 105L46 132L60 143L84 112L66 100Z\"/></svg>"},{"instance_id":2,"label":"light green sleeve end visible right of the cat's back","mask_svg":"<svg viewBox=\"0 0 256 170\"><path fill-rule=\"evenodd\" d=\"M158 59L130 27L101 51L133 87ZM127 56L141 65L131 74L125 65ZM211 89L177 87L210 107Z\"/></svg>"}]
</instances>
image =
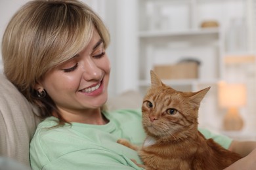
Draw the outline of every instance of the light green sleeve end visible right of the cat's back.
<instances>
[{"instance_id":1,"label":"light green sleeve end visible right of the cat's back","mask_svg":"<svg viewBox=\"0 0 256 170\"><path fill-rule=\"evenodd\" d=\"M198 130L204 135L206 139L212 138L215 142L221 144L224 148L228 149L230 144L232 143L232 139L230 137L212 133L211 131L203 128L198 128Z\"/></svg>"}]
</instances>

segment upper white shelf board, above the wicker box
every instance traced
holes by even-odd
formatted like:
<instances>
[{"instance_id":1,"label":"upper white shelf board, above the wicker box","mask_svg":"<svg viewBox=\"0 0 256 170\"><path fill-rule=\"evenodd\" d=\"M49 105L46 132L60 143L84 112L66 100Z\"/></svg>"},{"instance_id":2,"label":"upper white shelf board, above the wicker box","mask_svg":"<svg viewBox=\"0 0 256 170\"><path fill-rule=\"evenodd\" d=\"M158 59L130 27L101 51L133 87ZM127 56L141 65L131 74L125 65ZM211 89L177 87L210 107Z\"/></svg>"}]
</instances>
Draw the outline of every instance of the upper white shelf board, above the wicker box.
<instances>
[{"instance_id":1,"label":"upper white shelf board, above the wicker box","mask_svg":"<svg viewBox=\"0 0 256 170\"><path fill-rule=\"evenodd\" d=\"M219 28L205 28L205 29L190 29L181 31L168 31L168 30L156 30L156 31L140 31L140 38L152 38L152 37L166 37L166 36L193 36L193 35L219 35Z\"/></svg>"}]
</instances>

